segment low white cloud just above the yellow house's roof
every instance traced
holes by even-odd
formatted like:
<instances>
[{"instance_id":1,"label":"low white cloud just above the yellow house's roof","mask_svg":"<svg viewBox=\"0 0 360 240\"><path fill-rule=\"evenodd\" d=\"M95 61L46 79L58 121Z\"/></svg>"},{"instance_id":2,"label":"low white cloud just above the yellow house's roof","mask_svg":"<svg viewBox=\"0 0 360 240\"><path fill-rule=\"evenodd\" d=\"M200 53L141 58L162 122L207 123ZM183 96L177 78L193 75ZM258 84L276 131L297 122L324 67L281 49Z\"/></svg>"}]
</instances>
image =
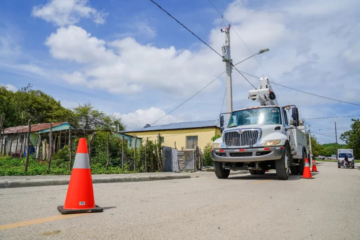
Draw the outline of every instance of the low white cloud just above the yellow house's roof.
<instances>
[{"instance_id":1,"label":"low white cloud just above the yellow house's roof","mask_svg":"<svg viewBox=\"0 0 360 240\"><path fill-rule=\"evenodd\" d=\"M137 109L135 112L128 114L114 113L121 117L122 122L127 126L128 130L142 128L146 124L152 124L159 118L165 116L165 112L160 108L150 107L149 109ZM160 121L156 122L156 125L169 124L176 122L176 118L172 115L167 115Z\"/></svg>"}]
</instances>

